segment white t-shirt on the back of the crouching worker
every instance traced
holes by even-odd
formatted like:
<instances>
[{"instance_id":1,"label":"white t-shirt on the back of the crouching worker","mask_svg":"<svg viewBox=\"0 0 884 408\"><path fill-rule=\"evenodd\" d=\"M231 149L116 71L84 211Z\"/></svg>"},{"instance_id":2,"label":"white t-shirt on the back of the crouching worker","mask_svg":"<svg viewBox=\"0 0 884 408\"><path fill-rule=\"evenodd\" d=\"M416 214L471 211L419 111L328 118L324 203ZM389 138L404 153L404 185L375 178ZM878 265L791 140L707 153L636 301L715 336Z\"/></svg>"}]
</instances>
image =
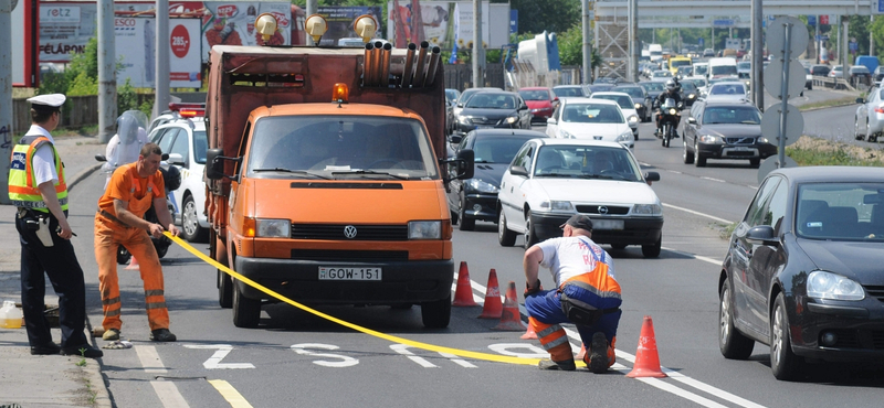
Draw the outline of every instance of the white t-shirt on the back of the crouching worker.
<instances>
[{"instance_id":1,"label":"white t-shirt on the back of the crouching worker","mask_svg":"<svg viewBox=\"0 0 884 408\"><path fill-rule=\"evenodd\" d=\"M585 236L559 237L537 244L544 253L540 266L549 268L556 287L578 275L592 271L596 261L608 265L608 276L614 277L614 261L598 244Z\"/></svg>"}]
</instances>

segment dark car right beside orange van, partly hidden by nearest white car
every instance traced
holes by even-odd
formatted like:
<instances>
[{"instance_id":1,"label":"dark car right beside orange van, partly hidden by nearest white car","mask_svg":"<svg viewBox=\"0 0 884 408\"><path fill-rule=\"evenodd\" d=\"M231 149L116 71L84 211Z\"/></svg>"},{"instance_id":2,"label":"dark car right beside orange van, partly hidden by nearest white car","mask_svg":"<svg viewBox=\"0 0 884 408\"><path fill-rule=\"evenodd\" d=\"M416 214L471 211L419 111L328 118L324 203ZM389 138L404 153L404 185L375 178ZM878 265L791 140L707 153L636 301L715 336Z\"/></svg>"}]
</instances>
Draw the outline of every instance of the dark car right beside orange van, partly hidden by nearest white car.
<instances>
[{"instance_id":1,"label":"dark car right beside orange van, partly hidden by nearest white car","mask_svg":"<svg viewBox=\"0 0 884 408\"><path fill-rule=\"evenodd\" d=\"M469 180L452 180L448 193L451 221L461 230L472 230L476 219L497 222L497 190L501 178L518 149L529 139L546 138L534 130L476 129L464 137L449 154L472 149L475 153L475 175Z\"/></svg>"}]
</instances>

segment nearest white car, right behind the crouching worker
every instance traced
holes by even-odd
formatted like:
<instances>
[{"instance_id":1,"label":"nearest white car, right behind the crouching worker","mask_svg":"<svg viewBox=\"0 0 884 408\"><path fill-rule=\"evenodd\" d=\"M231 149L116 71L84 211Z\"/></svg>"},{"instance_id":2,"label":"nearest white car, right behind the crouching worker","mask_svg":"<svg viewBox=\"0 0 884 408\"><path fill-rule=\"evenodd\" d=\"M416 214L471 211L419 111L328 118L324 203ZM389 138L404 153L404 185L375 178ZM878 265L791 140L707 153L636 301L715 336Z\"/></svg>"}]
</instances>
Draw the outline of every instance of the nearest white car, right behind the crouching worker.
<instances>
[{"instance_id":1,"label":"nearest white car, right behind the crouching worker","mask_svg":"<svg viewBox=\"0 0 884 408\"><path fill-rule=\"evenodd\" d=\"M660 255L663 206L651 189L660 173L642 174L635 157L620 143L575 139L532 139L522 146L501 180L497 238L502 246L525 237L530 247L561 236L575 214L592 218L592 240L614 249L641 245Z\"/></svg>"}]
</instances>

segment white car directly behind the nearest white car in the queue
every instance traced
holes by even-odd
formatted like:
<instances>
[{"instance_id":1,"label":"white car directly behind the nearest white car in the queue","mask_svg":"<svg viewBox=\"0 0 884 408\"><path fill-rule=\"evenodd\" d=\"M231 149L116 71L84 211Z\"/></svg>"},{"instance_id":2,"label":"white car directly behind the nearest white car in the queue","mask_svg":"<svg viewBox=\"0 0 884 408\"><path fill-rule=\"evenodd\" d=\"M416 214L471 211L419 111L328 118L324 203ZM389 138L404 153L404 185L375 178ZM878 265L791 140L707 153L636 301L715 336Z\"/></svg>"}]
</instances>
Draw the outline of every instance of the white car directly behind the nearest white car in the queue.
<instances>
[{"instance_id":1,"label":"white car directly behind the nearest white car in the queue","mask_svg":"<svg viewBox=\"0 0 884 408\"><path fill-rule=\"evenodd\" d=\"M559 98L559 106L546 124L550 138L604 140L630 148L635 144L632 128L613 100Z\"/></svg>"}]
</instances>

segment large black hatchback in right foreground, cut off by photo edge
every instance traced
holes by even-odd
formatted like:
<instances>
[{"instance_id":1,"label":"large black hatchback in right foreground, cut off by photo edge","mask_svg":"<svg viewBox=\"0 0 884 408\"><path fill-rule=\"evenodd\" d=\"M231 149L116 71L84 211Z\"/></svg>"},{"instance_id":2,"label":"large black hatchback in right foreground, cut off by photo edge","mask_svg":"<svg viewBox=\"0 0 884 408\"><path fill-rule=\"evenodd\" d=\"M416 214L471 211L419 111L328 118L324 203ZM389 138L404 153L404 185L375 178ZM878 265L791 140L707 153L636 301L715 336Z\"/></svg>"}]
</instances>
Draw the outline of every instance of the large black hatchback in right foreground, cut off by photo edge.
<instances>
[{"instance_id":1,"label":"large black hatchback in right foreground, cut off by photo edge","mask_svg":"<svg viewBox=\"0 0 884 408\"><path fill-rule=\"evenodd\" d=\"M730 236L718 346L770 345L778 379L811 362L884 362L884 169L778 169Z\"/></svg>"}]
</instances>

